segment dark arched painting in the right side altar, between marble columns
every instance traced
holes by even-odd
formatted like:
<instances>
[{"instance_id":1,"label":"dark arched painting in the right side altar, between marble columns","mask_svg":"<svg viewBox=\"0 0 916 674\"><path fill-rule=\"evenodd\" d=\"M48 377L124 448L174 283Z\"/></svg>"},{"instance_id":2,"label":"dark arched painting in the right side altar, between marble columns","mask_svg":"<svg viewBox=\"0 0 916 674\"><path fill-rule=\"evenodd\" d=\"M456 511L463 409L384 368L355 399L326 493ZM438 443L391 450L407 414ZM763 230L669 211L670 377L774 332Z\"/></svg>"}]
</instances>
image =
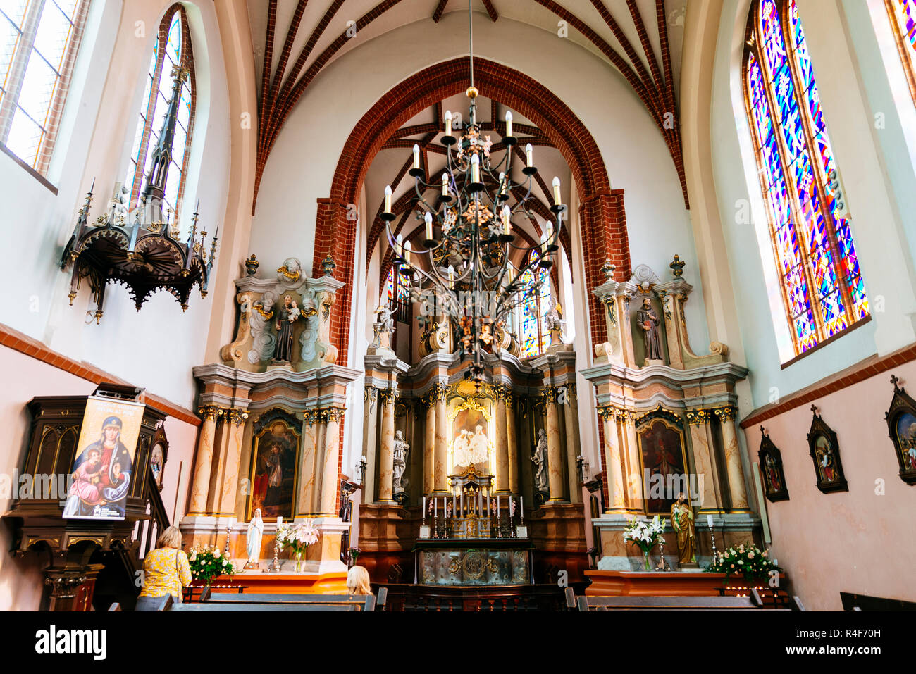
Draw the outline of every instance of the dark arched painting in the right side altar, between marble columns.
<instances>
[{"instance_id":1,"label":"dark arched painting in the right side altar, between marble columns","mask_svg":"<svg viewBox=\"0 0 916 674\"><path fill-rule=\"evenodd\" d=\"M648 515L670 515L671 506L683 493L688 501L699 498L699 487L691 484L685 469L683 422L673 412L658 408L639 419L643 493Z\"/></svg>"}]
</instances>

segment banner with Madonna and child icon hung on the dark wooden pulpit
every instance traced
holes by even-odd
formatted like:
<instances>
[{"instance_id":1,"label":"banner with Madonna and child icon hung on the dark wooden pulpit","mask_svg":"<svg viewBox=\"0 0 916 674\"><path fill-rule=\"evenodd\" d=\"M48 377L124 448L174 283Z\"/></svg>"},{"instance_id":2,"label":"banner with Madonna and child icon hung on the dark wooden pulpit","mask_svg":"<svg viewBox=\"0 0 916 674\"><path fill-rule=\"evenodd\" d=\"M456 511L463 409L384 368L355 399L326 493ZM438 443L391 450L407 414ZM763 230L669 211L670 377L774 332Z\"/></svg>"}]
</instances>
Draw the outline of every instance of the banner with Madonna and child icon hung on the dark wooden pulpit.
<instances>
[{"instance_id":1,"label":"banner with Madonna and child icon hung on the dark wooden pulpit","mask_svg":"<svg viewBox=\"0 0 916 674\"><path fill-rule=\"evenodd\" d=\"M87 398L64 517L124 519L145 408L110 397Z\"/></svg>"}]
</instances>

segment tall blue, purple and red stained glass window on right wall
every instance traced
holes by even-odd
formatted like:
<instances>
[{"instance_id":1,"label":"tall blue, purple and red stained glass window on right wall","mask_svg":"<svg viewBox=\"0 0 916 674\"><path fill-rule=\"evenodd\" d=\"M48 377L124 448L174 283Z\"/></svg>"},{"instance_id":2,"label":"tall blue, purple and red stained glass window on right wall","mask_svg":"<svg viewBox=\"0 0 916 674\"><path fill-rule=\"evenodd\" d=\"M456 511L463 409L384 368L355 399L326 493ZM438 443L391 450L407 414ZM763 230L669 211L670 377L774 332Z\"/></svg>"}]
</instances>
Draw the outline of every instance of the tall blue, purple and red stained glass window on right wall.
<instances>
[{"instance_id":1,"label":"tall blue, purple and red stained glass window on right wall","mask_svg":"<svg viewBox=\"0 0 916 674\"><path fill-rule=\"evenodd\" d=\"M794 0L758 0L745 99L796 355L868 317L834 153Z\"/></svg>"}]
</instances>

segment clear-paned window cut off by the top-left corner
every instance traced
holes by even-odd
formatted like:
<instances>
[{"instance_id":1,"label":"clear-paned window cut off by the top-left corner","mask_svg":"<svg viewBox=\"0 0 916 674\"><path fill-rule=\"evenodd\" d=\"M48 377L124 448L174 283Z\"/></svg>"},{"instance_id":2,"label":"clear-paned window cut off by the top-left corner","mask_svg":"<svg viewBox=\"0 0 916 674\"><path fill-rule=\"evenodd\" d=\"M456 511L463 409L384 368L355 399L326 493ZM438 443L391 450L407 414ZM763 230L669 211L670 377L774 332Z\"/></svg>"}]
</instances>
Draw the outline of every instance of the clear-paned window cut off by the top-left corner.
<instances>
[{"instance_id":1,"label":"clear-paned window cut off by the top-left corner","mask_svg":"<svg viewBox=\"0 0 916 674\"><path fill-rule=\"evenodd\" d=\"M0 145L48 172L90 0L0 2Z\"/></svg>"}]
</instances>

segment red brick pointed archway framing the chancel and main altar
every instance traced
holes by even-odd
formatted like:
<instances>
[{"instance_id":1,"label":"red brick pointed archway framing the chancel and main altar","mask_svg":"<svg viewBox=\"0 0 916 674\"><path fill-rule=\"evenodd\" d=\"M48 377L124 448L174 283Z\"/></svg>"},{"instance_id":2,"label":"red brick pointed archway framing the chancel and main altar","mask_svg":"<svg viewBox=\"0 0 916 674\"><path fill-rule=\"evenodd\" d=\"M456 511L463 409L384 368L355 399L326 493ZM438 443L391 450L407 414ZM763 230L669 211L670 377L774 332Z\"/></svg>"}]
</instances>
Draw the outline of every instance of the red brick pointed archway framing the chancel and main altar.
<instances>
[{"instance_id":1,"label":"red brick pointed archway framing the chancel and main altar","mask_svg":"<svg viewBox=\"0 0 916 674\"><path fill-rule=\"evenodd\" d=\"M312 269L332 255L335 276L347 286L338 296L331 338L342 363L349 352L350 307L353 298L355 225L347 219L356 203L366 171L376 154L400 126L433 103L463 92L468 84L467 57L438 63L398 83L363 115L347 139L337 162L331 196L318 200ZM573 172L579 193L586 288L592 342L605 342L604 311L590 289L605 279L605 259L616 265L617 278L629 278L630 259L623 190L611 190L601 152L582 121L553 92L527 75L490 60L474 60L474 84L487 96L516 110L537 125ZM364 214L365 215L365 214Z\"/></svg>"}]
</instances>

